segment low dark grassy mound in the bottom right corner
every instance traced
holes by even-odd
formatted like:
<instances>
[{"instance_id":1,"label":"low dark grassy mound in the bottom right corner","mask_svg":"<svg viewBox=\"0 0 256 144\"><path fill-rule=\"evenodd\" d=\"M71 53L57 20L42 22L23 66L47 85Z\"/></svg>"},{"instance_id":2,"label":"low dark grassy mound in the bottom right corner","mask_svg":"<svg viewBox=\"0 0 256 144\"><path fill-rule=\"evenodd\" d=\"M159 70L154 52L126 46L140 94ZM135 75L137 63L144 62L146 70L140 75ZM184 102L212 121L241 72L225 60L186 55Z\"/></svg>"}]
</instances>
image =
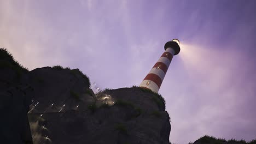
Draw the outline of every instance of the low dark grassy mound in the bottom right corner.
<instances>
[{"instance_id":1,"label":"low dark grassy mound in the bottom right corner","mask_svg":"<svg viewBox=\"0 0 256 144\"><path fill-rule=\"evenodd\" d=\"M228 143L244 143L244 144L256 144L256 140L252 140L249 142L246 142L245 140L236 140L236 139L231 139L231 140L225 140L222 138L216 138L213 136L209 136L209 135L205 135L203 137L200 137L200 139L198 139L198 141L201 141L203 143L216 143L216 144L222 144L224 142L228 142Z\"/></svg>"}]
</instances>

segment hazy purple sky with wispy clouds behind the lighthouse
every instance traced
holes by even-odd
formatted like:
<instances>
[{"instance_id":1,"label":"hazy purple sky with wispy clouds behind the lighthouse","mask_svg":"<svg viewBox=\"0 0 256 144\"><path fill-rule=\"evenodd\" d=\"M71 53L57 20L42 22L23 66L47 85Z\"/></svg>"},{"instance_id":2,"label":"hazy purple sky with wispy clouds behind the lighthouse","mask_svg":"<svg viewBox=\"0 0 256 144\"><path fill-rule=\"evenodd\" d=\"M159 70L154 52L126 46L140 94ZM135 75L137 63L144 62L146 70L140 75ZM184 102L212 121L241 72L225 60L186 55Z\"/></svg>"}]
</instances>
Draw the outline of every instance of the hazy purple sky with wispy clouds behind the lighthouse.
<instances>
[{"instance_id":1,"label":"hazy purple sky with wispy clouds behind the lighthouse","mask_svg":"<svg viewBox=\"0 0 256 144\"><path fill-rule=\"evenodd\" d=\"M30 70L79 68L102 88L139 85L173 38L159 93L172 143L256 139L256 1L5 1L0 47Z\"/></svg>"}]
</instances>

